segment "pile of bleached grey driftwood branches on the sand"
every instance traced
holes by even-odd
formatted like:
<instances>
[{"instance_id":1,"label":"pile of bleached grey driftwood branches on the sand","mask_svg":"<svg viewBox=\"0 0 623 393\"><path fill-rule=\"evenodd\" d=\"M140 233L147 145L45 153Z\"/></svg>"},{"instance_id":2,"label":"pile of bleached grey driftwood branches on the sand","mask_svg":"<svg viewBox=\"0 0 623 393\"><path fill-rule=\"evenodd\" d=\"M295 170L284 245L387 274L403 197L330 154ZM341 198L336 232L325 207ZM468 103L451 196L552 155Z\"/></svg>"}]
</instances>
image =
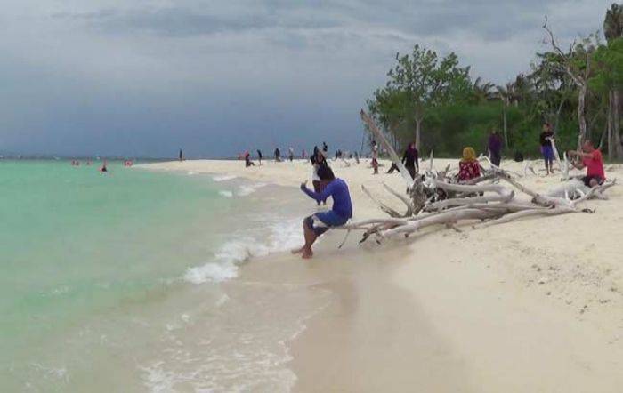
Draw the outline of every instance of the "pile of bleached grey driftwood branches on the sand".
<instances>
[{"instance_id":1,"label":"pile of bleached grey driftwood branches on the sand","mask_svg":"<svg viewBox=\"0 0 623 393\"><path fill-rule=\"evenodd\" d=\"M382 203L367 188L362 187L366 195L391 218L352 222L340 227L349 233L352 230L363 231L360 243L369 237L375 237L378 243L388 237L409 237L420 229L432 226L441 225L460 230L457 228L459 221L472 223L473 228L487 228L534 216L594 213L593 210L581 208L579 205L593 198L605 199L604 191L616 184L614 180L599 187L587 188L581 182L570 181L562 188L547 194L539 194L517 180L525 175L526 171L523 175L504 171L490 164L487 157L481 159L488 161L490 168L483 168L484 175L479 180L472 181L471 184L457 184L457 180L450 176L449 167L445 171L434 172L433 155L430 157L427 171L416 176L416 179L411 179L398 155L385 140L384 134L376 128L372 119L363 111L361 117L368 124L370 132L373 132L376 139L388 150L394 164L401 169L409 191L408 196L404 196L384 185L390 194L406 205L406 213L402 214ZM566 156L561 167L563 180L568 180L569 166ZM506 183L506 186L500 183ZM525 194L530 198L520 199L518 194Z\"/></svg>"}]
</instances>

